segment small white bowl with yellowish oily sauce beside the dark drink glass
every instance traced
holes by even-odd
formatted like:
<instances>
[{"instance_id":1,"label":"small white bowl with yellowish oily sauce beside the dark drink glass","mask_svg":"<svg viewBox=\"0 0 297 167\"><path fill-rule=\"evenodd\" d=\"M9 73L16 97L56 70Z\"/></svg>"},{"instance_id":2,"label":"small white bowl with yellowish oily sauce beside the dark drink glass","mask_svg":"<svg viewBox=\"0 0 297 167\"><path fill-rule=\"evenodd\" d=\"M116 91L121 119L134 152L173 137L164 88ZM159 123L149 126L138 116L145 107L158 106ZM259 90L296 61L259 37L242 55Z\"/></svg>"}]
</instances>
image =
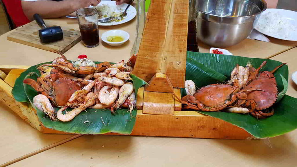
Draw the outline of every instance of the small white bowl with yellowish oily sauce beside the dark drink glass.
<instances>
[{"instance_id":1,"label":"small white bowl with yellowish oily sauce beside the dark drink glass","mask_svg":"<svg viewBox=\"0 0 297 167\"><path fill-rule=\"evenodd\" d=\"M124 40L121 42L109 42L107 40L107 37L110 37L110 36L120 36L120 37L123 37ZM125 42L127 42L127 40L129 40L129 38L130 38L129 33L127 33L126 31L123 31L123 30L109 30L101 35L102 41L104 41L105 43L107 43L110 46L123 45Z\"/></svg>"}]
</instances>

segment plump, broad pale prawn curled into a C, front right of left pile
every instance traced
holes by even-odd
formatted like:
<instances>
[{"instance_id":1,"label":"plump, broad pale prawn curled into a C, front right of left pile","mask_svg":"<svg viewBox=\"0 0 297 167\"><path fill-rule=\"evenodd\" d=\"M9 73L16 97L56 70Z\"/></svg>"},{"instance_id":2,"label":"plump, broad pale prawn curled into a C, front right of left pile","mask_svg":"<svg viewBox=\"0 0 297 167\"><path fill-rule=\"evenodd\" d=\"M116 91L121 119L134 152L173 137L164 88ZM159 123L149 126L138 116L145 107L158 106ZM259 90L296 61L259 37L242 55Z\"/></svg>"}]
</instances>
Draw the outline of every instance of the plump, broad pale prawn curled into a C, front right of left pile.
<instances>
[{"instance_id":1,"label":"plump, broad pale prawn curled into a C, front right of left pile","mask_svg":"<svg viewBox=\"0 0 297 167\"><path fill-rule=\"evenodd\" d=\"M108 92L108 89L110 89L110 92ZM104 105L110 105L112 104L114 101L116 101L116 98L118 97L119 94L119 88L120 86L104 86L99 94L98 94L98 98L100 103L104 104Z\"/></svg>"}]
</instances>

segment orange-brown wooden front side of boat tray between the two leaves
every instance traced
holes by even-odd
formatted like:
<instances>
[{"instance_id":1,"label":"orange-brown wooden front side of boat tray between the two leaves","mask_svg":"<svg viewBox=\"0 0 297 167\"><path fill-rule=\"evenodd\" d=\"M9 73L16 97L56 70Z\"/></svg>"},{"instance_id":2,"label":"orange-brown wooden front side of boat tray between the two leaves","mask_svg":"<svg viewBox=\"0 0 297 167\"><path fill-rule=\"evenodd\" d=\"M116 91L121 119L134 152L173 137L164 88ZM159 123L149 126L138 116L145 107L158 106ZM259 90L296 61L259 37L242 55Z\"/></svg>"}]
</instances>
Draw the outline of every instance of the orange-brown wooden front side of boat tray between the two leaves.
<instances>
[{"instance_id":1,"label":"orange-brown wooden front side of boat tray between the two leaves","mask_svg":"<svg viewBox=\"0 0 297 167\"><path fill-rule=\"evenodd\" d=\"M196 111L175 111L174 115L144 114L137 111L131 135L189 138L252 139L251 134L220 119Z\"/></svg>"}]
</instances>

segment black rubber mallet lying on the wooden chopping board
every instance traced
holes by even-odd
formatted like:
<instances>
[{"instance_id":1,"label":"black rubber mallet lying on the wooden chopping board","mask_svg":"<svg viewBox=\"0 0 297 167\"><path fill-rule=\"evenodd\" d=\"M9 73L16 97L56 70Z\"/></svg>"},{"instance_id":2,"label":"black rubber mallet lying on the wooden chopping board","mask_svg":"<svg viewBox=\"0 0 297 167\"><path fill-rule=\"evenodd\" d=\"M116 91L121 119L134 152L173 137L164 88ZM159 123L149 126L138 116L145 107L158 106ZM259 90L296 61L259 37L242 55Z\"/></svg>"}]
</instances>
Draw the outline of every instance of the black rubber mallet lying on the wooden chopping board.
<instances>
[{"instance_id":1,"label":"black rubber mallet lying on the wooden chopping board","mask_svg":"<svg viewBox=\"0 0 297 167\"><path fill-rule=\"evenodd\" d=\"M63 39L63 31L60 26L47 27L39 14L36 13L33 17L42 28L39 30L39 38L42 43L55 42Z\"/></svg>"}]
</instances>

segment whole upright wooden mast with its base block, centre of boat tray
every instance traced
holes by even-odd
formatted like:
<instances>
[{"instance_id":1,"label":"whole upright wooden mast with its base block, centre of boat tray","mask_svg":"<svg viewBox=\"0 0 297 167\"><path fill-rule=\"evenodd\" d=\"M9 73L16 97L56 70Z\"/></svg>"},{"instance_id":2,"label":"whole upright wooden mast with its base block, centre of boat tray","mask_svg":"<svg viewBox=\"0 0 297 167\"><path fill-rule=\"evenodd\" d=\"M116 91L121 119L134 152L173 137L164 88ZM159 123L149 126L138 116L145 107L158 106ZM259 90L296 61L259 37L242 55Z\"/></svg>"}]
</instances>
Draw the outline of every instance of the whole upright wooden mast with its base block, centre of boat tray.
<instances>
[{"instance_id":1,"label":"whole upright wooden mast with its base block, centre of boat tray","mask_svg":"<svg viewBox=\"0 0 297 167\"><path fill-rule=\"evenodd\" d=\"M133 70L149 82L143 93L144 114L180 110L171 93L184 87L188 16L189 0L151 1Z\"/></svg>"}]
</instances>

